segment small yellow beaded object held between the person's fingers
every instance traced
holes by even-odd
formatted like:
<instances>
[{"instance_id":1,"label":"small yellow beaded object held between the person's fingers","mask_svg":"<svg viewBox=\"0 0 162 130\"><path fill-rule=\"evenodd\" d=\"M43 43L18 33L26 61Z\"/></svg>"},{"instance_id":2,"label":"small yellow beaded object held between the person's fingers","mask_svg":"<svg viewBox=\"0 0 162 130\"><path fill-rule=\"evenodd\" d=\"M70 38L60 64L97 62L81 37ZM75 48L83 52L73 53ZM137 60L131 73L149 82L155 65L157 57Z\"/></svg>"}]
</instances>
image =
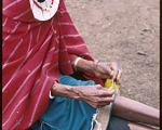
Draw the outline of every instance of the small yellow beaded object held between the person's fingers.
<instances>
[{"instance_id":1,"label":"small yellow beaded object held between the person's fingers","mask_svg":"<svg viewBox=\"0 0 162 130\"><path fill-rule=\"evenodd\" d=\"M118 92L118 91L119 91L119 88L120 88L120 86L119 86L117 82L112 81L111 79L106 79L105 87L107 87L107 88L112 87L112 89L113 89L116 92Z\"/></svg>"}]
</instances>

